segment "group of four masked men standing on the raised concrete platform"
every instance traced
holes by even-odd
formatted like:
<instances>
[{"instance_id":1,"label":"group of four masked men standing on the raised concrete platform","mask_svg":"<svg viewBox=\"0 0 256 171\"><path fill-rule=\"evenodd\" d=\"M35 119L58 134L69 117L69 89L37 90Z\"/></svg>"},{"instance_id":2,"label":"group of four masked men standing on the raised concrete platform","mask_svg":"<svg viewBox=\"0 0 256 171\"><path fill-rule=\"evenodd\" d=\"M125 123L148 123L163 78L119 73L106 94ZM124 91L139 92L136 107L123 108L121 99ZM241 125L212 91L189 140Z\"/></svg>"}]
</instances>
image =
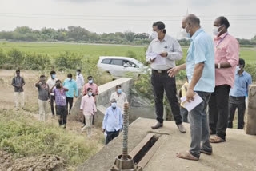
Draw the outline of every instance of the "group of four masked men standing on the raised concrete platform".
<instances>
[{"instance_id":1,"label":"group of four masked men standing on the raised concrete platform","mask_svg":"<svg viewBox=\"0 0 256 171\"><path fill-rule=\"evenodd\" d=\"M154 22L151 35L154 39L146 51L146 61L152 68L151 83L157 115L157 122L151 128L163 126L165 91L179 131L186 133L182 122L190 122L190 150L177 153L182 159L198 161L201 153L211 155L210 143L226 141L226 128L232 128L236 109L238 129L244 125L245 99L252 78L244 70L245 61L239 59L238 41L228 33L229 21L223 16L218 17L213 27L214 40L202 29L197 16L188 14L183 18L181 33L190 38L191 43L186 63L180 66L175 66L175 61L182 59L182 48L177 40L166 34L163 22ZM150 53L159 56L152 58ZM202 98L190 113L179 105L176 96L175 75L180 70L186 70L187 82L179 91L179 97L186 97L190 102L198 93Z\"/></svg>"}]
</instances>

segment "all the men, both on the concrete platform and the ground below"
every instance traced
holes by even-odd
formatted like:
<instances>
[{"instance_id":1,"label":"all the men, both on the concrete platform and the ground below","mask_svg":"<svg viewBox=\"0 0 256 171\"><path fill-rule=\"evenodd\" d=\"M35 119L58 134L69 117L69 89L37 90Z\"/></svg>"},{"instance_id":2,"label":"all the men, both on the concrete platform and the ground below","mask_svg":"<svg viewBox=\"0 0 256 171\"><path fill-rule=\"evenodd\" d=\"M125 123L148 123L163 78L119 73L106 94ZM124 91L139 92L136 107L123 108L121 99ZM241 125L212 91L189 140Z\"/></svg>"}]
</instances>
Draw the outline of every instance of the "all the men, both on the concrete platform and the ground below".
<instances>
[{"instance_id":1,"label":"all the men, both on the concrete platform and the ground below","mask_svg":"<svg viewBox=\"0 0 256 171\"><path fill-rule=\"evenodd\" d=\"M243 129L244 126L245 100L252 78L244 70L245 61L239 59L238 41L228 33L230 22L221 16L215 19L213 27L214 40L202 29L197 16L189 14L183 18L182 35L190 38L191 43L186 55L186 63L180 66L176 66L175 61L182 59L182 47L176 39L166 34L163 22L154 22L151 35L154 39L146 51L146 61L150 62L152 68L151 83L157 115L157 122L151 128L159 129L163 126L163 95L166 92L178 130L186 133L182 122L190 122L190 150L177 153L177 157L183 159L198 161L201 153L212 154L210 143L226 141L226 129L233 127L236 109L238 109L238 129ZM158 57L152 58L150 53L158 54ZM186 70L187 82L182 86L179 96L186 97L189 102L194 100L194 93L198 93L202 98L202 103L190 113L178 102L175 75L180 70ZM24 99L25 81L20 77L19 70L16 74L12 85L18 109L18 100ZM88 129L90 136L97 112L98 85L94 84L92 76L88 77L88 83L85 84L81 70L77 70L76 81L72 79L72 74L68 74L63 84L55 75L56 73L51 71L47 82L46 77L41 75L40 80L35 84L38 88L40 119L46 120L46 106L50 99L53 117L55 101L59 125L66 128L66 116L72 108L74 94L75 97L83 95L80 106L84 116L82 131ZM126 94L122 92L121 85L118 85L116 92L110 97L110 107L106 109L102 122L102 132L106 133L106 144L117 137L122 130L123 105L126 101ZM70 105L69 109L68 105Z\"/></svg>"}]
</instances>

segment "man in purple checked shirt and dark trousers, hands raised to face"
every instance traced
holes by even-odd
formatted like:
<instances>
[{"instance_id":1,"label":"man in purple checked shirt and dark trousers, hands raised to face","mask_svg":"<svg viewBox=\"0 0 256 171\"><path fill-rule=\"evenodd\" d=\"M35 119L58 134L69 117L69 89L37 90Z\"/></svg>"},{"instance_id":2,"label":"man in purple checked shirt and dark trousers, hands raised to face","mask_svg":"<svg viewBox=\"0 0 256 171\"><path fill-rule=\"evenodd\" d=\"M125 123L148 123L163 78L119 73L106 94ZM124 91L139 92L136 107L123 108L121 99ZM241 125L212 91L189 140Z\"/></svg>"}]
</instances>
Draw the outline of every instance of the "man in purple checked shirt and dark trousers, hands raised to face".
<instances>
[{"instance_id":1,"label":"man in purple checked shirt and dark trousers, hands raised to face","mask_svg":"<svg viewBox=\"0 0 256 171\"><path fill-rule=\"evenodd\" d=\"M56 85L50 89L50 92L55 94L56 103L56 115L58 116L58 125L63 126L66 129L66 117L67 117L67 107L66 107L66 89L62 86L62 82L57 80Z\"/></svg>"}]
</instances>

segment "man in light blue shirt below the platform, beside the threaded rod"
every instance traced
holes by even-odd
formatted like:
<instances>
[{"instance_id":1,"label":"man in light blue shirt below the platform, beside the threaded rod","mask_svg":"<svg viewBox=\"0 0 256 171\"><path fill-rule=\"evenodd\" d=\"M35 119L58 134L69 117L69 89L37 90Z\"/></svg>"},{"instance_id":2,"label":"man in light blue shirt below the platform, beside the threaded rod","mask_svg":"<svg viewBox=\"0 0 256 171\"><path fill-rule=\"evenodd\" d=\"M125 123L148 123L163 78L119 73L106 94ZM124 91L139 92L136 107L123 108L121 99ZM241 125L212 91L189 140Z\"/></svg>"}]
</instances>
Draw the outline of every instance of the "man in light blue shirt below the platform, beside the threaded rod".
<instances>
[{"instance_id":1,"label":"man in light blue shirt below the platform, beside the threaded rod","mask_svg":"<svg viewBox=\"0 0 256 171\"><path fill-rule=\"evenodd\" d=\"M102 123L102 131L103 133L106 132L106 145L118 137L122 124L122 110L117 107L117 101L113 98L110 101L110 107L106 109Z\"/></svg>"}]
</instances>

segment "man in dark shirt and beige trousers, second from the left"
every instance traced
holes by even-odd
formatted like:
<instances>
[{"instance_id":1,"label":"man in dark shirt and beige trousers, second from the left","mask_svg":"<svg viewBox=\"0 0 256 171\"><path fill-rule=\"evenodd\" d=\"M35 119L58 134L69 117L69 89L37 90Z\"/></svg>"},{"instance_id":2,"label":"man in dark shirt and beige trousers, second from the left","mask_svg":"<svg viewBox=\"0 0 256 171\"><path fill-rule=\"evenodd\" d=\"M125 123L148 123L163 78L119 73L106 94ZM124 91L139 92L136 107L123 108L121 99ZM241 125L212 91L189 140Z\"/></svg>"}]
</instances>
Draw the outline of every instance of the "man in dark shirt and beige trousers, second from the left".
<instances>
[{"instance_id":1,"label":"man in dark shirt and beige trousers, second from the left","mask_svg":"<svg viewBox=\"0 0 256 171\"><path fill-rule=\"evenodd\" d=\"M47 101L49 100L49 85L46 83L46 76L41 75L35 86L38 88L38 105L40 121L47 120Z\"/></svg>"}]
</instances>

